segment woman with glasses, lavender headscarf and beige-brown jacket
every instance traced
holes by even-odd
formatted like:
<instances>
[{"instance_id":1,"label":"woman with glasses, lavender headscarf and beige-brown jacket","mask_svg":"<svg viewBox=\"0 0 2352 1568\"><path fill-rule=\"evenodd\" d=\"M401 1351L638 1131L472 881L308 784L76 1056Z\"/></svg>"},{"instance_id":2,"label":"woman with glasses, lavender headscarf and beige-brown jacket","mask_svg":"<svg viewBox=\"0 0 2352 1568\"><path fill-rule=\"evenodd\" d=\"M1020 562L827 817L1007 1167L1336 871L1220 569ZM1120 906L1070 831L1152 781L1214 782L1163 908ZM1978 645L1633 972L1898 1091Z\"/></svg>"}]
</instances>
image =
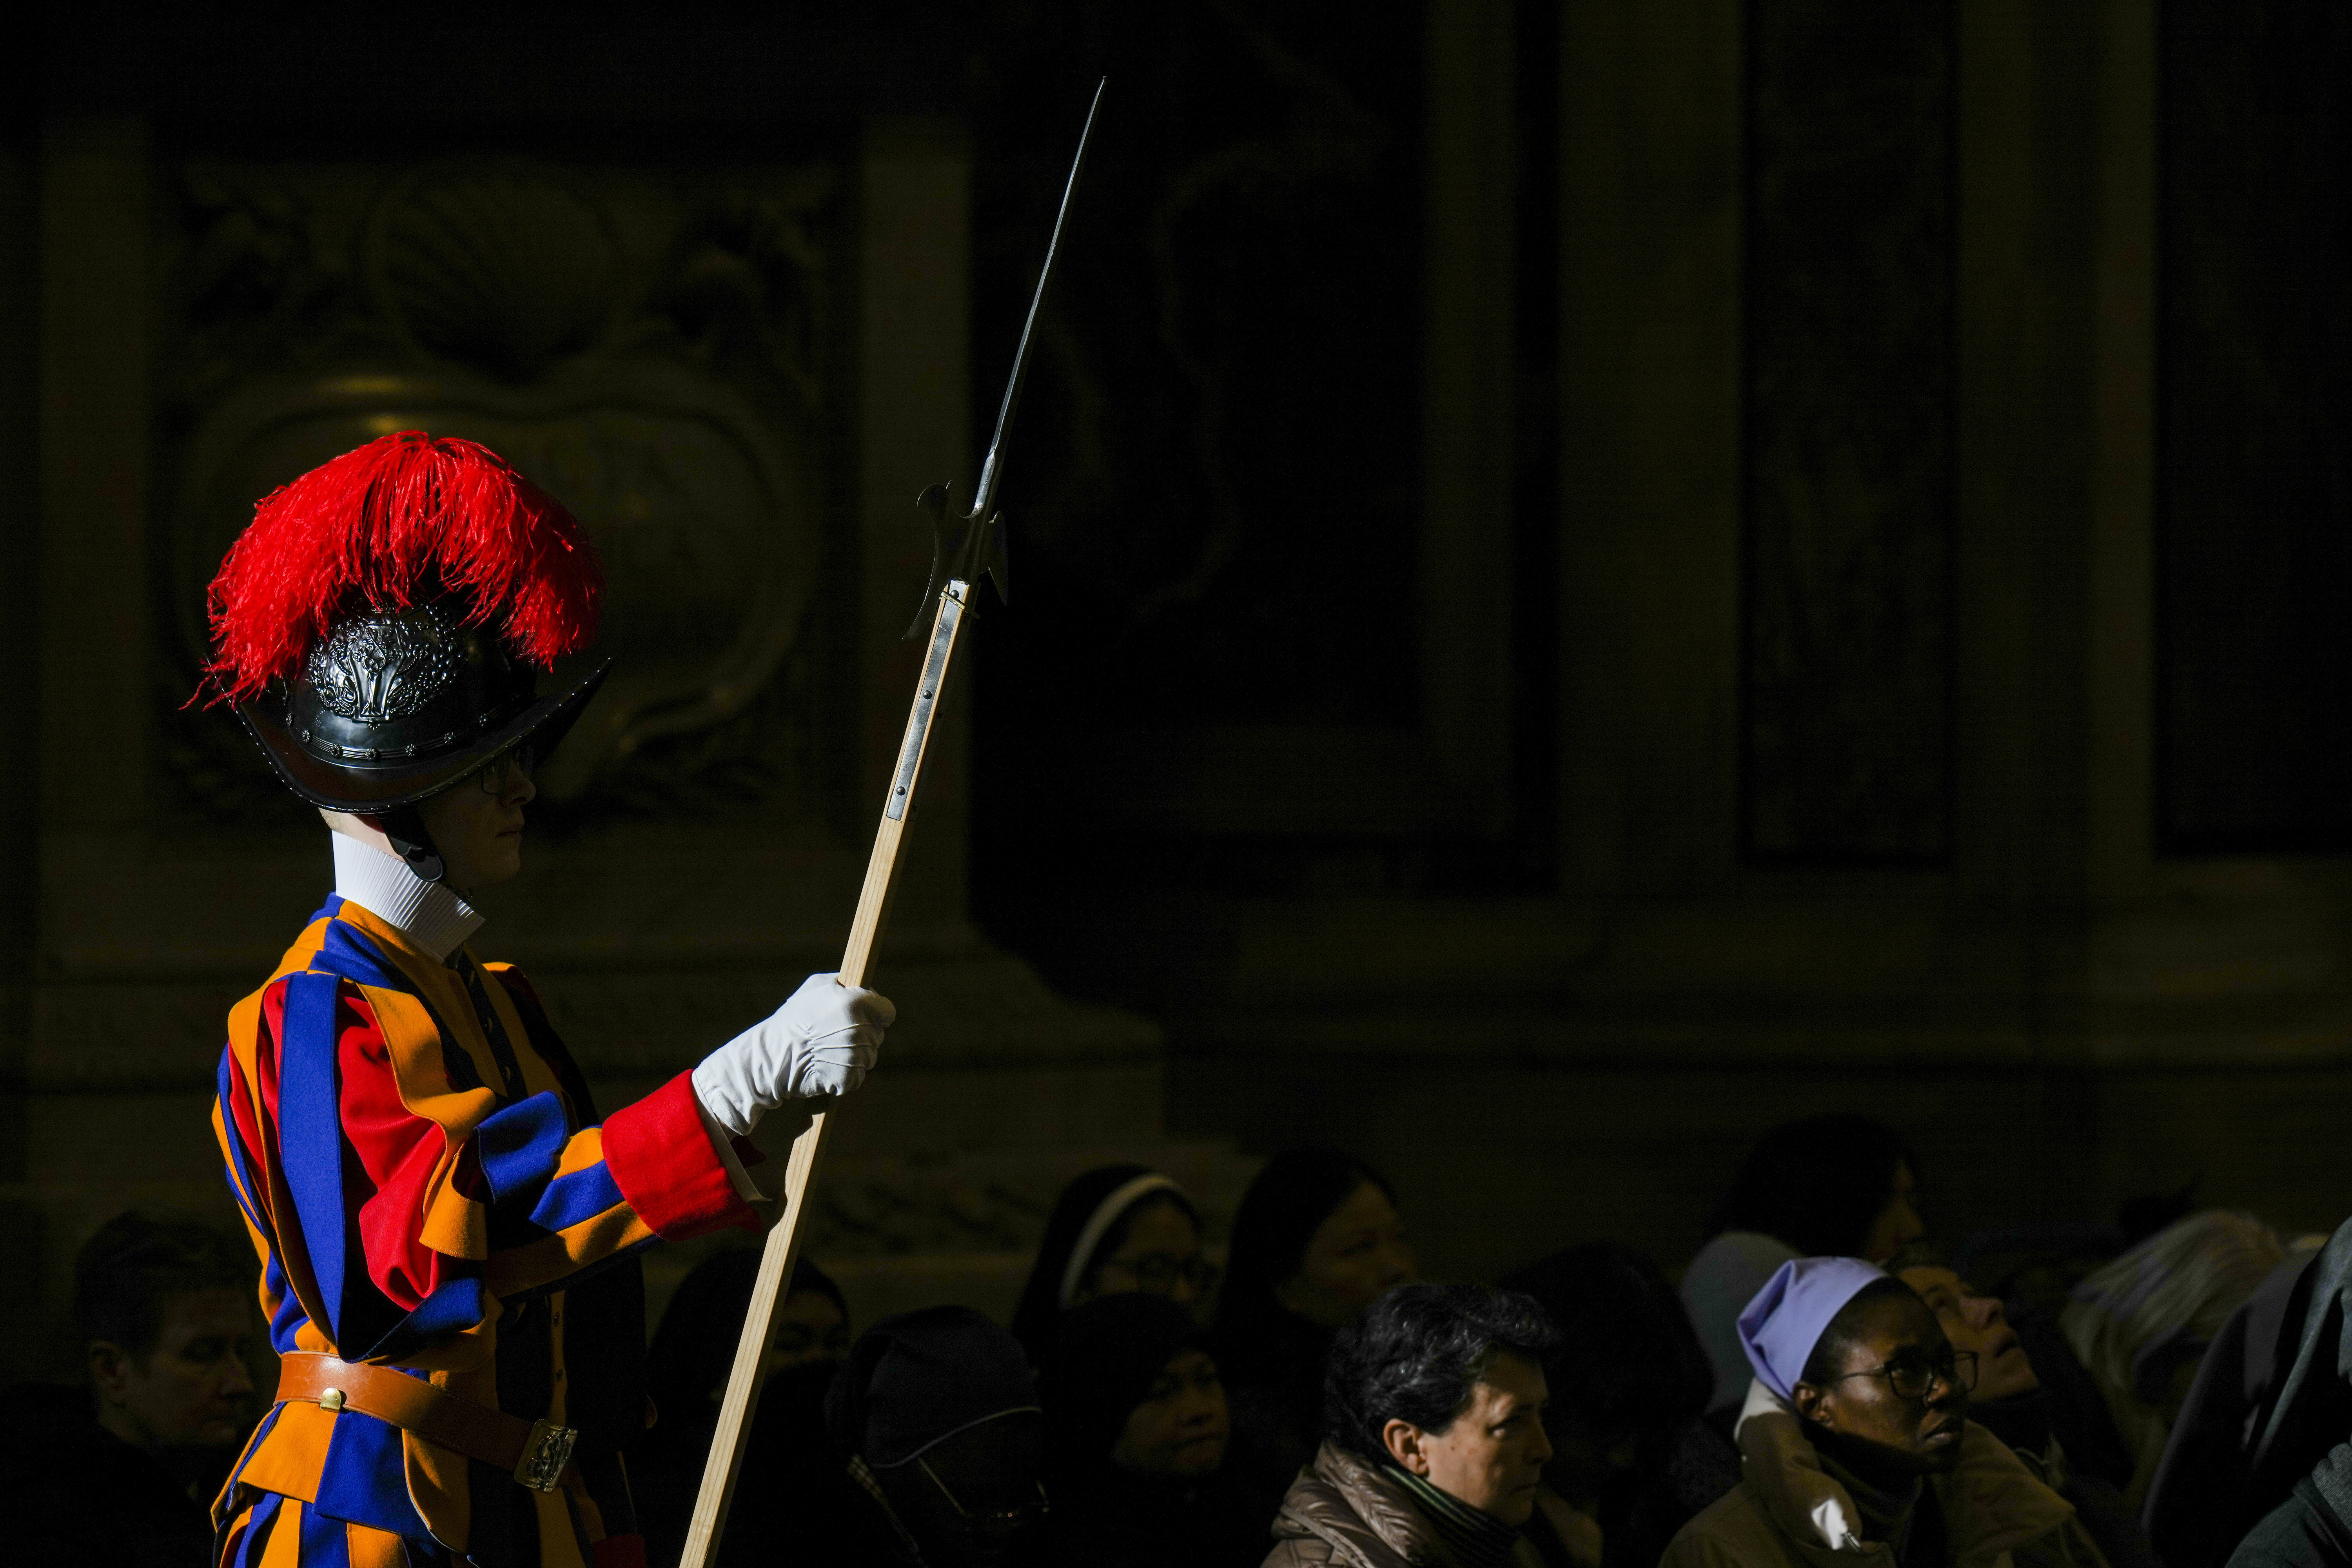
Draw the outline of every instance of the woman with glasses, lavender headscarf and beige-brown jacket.
<instances>
[{"instance_id":1,"label":"woman with glasses, lavender headscarf and beige-brown jacket","mask_svg":"<svg viewBox=\"0 0 2352 1568\"><path fill-rule=\"evenodd\" d=\"M1740 1314L1740 1483L1661 1568L2105 1568L2074 1509L1969 1420L1976 1352L1858 1258L1780 1265Z\"/></svg>"}]
</instances>

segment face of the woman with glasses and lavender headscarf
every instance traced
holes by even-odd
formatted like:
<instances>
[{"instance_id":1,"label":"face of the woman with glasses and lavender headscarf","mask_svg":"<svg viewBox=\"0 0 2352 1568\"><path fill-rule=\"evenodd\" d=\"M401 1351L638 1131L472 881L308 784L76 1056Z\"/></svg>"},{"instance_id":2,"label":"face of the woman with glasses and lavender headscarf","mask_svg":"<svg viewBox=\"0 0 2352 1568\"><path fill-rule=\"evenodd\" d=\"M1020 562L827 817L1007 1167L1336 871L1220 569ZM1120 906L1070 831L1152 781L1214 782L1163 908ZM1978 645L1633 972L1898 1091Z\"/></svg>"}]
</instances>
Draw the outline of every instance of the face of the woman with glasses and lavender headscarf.
<instances>
[{"instance_id":1,"label":"face of the woman with glasses and lavender headscarf","mask_svg":"<svg viewBox=\"0 0 2352 1568\"><path fill-rule=\"evenodd\" d=\"M1912 1469L1950 1472L1959 1465L1969 1389L1936 1314L1917 1295L1886 1295L1863 1305L1860 1328L1837 1375L1792 1389L1797 1413Z\"/></svg>"}]
</instances>

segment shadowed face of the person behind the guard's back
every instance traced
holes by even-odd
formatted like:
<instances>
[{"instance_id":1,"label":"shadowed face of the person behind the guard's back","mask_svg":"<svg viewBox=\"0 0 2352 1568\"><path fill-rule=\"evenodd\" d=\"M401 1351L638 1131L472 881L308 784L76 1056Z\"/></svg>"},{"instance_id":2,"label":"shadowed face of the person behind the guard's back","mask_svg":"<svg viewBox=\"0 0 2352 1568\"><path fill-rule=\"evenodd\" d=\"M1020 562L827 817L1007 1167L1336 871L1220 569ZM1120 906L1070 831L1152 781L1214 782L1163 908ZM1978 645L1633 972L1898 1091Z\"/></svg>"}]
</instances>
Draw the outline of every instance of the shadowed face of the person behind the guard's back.
<instances>
[{"instance_id":1,"label":"shadowed face of the person behind the guard's back","mask_svg":"<svg viewBox=\"0 0 2352 1568\"><path fill-rule=\"evenodd\" d=\"M252 1410L252 1295L228 1286L188 1291L165 1307L162 1333L143 1359L94 1342L89 1380L151 1450L226 1448L245 1436Z\"/></svg>"}]
</instances>

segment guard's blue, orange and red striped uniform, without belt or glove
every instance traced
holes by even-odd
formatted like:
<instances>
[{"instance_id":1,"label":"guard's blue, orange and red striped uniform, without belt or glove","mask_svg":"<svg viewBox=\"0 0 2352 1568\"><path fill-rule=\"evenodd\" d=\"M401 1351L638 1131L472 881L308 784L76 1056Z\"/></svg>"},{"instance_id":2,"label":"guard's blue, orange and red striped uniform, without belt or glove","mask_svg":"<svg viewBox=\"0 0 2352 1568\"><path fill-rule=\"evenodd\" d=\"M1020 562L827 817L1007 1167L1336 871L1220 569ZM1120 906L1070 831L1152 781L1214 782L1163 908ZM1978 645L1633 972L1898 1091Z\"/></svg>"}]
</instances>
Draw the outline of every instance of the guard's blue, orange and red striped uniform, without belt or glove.
<instances>
[{"instance_id":1,"label":"guard's blue, orange and red striped uniform, without belt or glove","mask_svg":"<svg viewBox=\"0 0 2352 1568\"><path fill-rule=\"evenodd\" d=\"M445 959L341 896L320 910L230 1011L214 1105L270 1342L550 1418L579 1446L539 1493L360 1410L285 1401L214 1505L219 1563L642 1563L619 1453L649 1418L635 1253L757 1222L689 1077L600 1119L510 966Z\"/></svg>"}]
</instances>

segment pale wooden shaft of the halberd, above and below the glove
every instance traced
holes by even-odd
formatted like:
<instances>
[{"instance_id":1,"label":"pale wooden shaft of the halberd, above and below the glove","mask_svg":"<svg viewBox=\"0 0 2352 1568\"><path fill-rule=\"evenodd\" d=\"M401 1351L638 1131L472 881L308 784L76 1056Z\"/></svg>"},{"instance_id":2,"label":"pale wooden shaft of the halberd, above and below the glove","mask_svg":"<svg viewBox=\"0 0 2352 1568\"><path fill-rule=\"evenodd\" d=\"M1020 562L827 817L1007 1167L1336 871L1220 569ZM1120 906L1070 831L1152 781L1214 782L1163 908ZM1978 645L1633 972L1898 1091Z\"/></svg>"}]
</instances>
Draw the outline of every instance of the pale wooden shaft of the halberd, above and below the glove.
<instances>
[{"instance_id":1,"label":"pale wooden shaft of the halberd, above and below the glove","mask_svg":"<svg viewBox=\"0 0 2352 1568\"><path fill-rule=\"evenodd\" d=\"M875 830L875 851L866 860L866 886L858 891L858 912L849 922L849 947L842 952L842 985L866 985L866 969L873 964L875 943L889 919L889 896L898 877L898 846L906 839L908 809L915 802L915 785L922 778L922 757L931 741L931 715L955 672L955 649L964 630L964 602L969 585L950 578L938 595L938 611L931 618L931 646L922 661L922 682L906 717L906 738L898 743L898 766L891 773L891 792L882 804L882 825ZM720 1401L720 1425L710 1434L710 1460L703 1465L703 1486L694 1495L694 1519L687 1526L687 1552L680 1568L708 1568L717 1554L720 1535L727 1533L727 1509L734 1502L736 1476L743 1467L743 1436L760 1408L760 1385L767 1368L767 1347L776 1335L776 1305L793 1279L793 1260L800 1255L800 1225L809 1213L809 1190L816 1182L816 1161L826 1154L826 1126L830 1112L818 1112L809 1131L793 1140L793 1159L783 1168L783 1213L767 1232L760 1251L760 1274L753 1279L750 1309L743 1316L743 1338L736 1340L734 1371L727 1373L727 1396ZM783 1542L779 1542L783 1547Z\"/></svg>"}]
</instances>

